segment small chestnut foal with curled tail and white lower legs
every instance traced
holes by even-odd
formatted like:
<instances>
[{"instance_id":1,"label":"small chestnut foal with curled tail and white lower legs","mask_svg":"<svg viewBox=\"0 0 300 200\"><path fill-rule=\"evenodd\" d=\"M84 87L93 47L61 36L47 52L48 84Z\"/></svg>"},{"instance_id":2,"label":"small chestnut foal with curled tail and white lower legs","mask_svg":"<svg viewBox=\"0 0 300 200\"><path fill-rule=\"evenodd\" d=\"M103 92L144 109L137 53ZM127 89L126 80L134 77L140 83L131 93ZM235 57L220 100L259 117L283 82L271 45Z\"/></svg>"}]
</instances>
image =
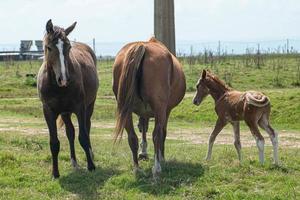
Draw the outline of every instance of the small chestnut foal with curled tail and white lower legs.
<instances>
[{"instance_id":1,"label":"small chestnut foal with curled tail and white lower legs","mask_svg":"<svg viewBox=\"0 0 300 200\"><path fill-rule=\"evenodd\" d=\"M218 119L208 143L207 160L210 160L212 147L217 135L230 122L234 131L234 146L241 161L240 123L244 120L254 138L259 150L259 161L264 163L264 138L258 126L270 136L273 145L274 163L278 164L278 135L269 123L271 112L270 100L267 96L256 91L239 92L227 87L218 77L203 70L202 77L197 83L194 104L200 105L207 95L215 100L215 111Z\"/></svg>"}]
</instances>

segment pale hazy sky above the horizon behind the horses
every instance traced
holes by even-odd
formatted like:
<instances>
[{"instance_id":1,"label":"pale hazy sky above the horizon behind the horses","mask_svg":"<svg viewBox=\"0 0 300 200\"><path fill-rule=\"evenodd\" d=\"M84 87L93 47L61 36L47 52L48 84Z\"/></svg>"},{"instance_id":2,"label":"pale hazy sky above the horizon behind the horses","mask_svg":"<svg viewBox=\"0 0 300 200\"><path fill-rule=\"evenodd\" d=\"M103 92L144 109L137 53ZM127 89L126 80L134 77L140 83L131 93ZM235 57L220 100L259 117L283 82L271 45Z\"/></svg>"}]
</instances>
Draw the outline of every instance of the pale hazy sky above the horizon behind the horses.
<instances>
[{"instance_id":1,"label":"pale hazy sky above the horizon behind the horses","mask_svg":"<svg viewBox=\"0 0 300 200\"><path fill-rule=\"evenodd\" d=\"M299 0L174 0L177 41L300 39ZM42 39L48 19L77 26L70 39L114 43L153 35L154 0L8 0L0 45Z\"/></svg>"}]
</instances>

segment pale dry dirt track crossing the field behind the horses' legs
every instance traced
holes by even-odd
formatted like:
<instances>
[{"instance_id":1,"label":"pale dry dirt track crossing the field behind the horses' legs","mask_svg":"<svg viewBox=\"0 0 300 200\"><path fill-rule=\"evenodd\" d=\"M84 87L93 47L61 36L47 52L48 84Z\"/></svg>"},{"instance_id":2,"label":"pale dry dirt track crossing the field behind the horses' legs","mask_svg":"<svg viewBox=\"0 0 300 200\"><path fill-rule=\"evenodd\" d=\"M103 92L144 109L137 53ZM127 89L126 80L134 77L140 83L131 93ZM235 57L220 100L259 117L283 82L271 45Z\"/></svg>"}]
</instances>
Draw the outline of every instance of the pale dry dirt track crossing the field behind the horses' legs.
<instances>
[{"instance_id":1,"label":"pale dry dirt track crossing the field behind the horses' legs","mask_svg":"<svg viewBox=\"0 0 300 200\"><path fill-rule=\"evenodd\" d=\"M97 129L114 129L113 122L94 122L92 126ZM212 132L213 127L199 127L169 130L167 139L181 140L192 144L207 144L209 134ZM25 135L48 134L48 129L44 121L40 119L19 119L19 118L2 118L0 119L0 134L1 132L18 132ZM300 148L300 132L277 130L279 133L279 146L289 148ZM64 130L59 131L64 134ZM270 146L271 142L267 133L262 131L265 137L265 144ZM94 134L96 136L96 134ZM112 134L103 133L101 137L106 139L112 138ZM150 139L151 133L148 134ZM249 130L241 130L241 143L244 147L255 146L255 140ZM215 144L233 144L233 130L231 126L227 126L218 135Z\"/></svg>"}]
</instances>

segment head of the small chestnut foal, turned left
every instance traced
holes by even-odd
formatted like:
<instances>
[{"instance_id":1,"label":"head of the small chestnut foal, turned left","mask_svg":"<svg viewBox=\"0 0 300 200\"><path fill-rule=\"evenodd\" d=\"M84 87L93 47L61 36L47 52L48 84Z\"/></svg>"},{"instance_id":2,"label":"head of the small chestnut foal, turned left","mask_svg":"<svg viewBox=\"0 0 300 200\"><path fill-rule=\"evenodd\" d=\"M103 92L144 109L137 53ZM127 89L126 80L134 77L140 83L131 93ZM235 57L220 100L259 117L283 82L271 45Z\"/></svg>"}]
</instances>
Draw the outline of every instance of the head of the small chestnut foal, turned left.
<instances>
[{"instance_id":1,"label":"head of the small chestnut foal, turned left","mask_svg":"<svg viewBox=\"0 0 300 200\"><path fill-rule=\"evenodd\" d=\"M197 106L200 105L200 103L203 101L203 99L209 94L209 89L207 88L207 80L206 80L206 70L204 69L202 71L201 78L198 80L196 88L197 92L193 99L193 103Z\"/></svg>"}]
</instances>

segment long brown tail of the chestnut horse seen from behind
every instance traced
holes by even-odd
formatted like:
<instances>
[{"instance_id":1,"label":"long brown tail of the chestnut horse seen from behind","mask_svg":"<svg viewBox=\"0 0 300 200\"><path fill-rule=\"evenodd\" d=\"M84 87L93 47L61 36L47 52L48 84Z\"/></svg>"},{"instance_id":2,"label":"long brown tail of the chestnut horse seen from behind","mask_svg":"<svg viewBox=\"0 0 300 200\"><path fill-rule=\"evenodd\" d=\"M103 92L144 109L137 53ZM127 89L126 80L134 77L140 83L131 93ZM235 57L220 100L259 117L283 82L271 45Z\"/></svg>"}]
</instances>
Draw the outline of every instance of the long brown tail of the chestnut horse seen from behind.
<instances>
[{"instance_id":1,"label":"long brown tail of the chestnut horse seen from behind","mask_svg":"<svg viewBox=\"0 0 300 200\"><path fill-rule=\"evenodd\" d=\"M125 56L117 93L117 122L114 141L122 137L126 121L132 113L137 90L137 72L145 54L145 46L137 43Z\"/></svg>"}]
</instances>

